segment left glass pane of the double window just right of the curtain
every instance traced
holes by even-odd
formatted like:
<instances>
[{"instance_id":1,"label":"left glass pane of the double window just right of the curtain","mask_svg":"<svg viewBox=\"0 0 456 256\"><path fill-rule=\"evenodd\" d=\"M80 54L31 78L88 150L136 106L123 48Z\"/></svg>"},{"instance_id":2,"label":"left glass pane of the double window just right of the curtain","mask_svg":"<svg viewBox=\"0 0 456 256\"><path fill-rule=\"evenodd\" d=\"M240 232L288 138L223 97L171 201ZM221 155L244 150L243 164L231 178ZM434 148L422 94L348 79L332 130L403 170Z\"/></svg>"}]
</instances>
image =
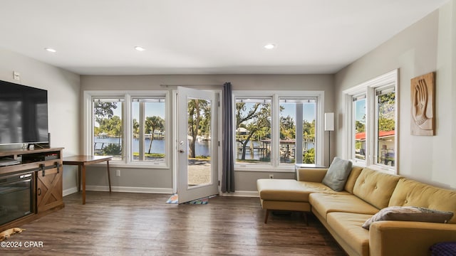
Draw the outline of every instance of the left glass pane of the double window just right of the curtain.
<instances>
[{"instance_id":1,"label":"left glass pane of the double window just right of the curtain","mask_svg":"<svg viewBox=\"0 0 456 256\"><path fill-rule=\"evenodd\" d=\"M271 163L271 99L236 99L236 162Z\"/></svg>"}]
</instances>

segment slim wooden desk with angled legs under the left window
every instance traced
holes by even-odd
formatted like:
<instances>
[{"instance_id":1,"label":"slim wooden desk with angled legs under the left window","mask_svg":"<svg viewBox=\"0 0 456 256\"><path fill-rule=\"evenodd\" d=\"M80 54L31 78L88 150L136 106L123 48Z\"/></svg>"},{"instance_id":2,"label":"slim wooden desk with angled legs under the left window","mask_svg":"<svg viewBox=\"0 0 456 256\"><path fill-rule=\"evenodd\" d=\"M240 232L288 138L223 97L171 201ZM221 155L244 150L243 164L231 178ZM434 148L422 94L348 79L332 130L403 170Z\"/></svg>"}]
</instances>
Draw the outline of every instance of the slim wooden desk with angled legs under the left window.
<instances>
[{"instance_id":1,"label":"slim wooden desk with angled legs under the left window","mask_svg":"<svg viewBox=\"0 0 456 256\"><path fill-rule=\"evenodd\" d=\"M109 175L109 161L113 156L68 156L63 157L63 164L78 166L78 191L81 191L81 176L83 184L83 205L86 204L86 166L106 161L108 169L109 193L111 192L111 178ZM81 174L82 171L82 174Z\"/></svg>"}]
</instances>

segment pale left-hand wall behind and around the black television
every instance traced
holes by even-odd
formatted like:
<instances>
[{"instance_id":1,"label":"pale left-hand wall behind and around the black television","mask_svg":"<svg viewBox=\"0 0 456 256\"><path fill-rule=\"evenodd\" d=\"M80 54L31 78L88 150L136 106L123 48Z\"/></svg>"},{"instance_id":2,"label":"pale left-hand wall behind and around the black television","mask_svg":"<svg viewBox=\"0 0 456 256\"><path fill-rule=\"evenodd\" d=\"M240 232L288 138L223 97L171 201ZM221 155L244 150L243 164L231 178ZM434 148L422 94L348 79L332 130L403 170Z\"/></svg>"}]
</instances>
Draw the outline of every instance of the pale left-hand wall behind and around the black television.
<instances>
[{"instance_id":1,"label":"pale left-hand wall behind and around the black television","mask_svg":"<svg viewBox=\"0 0 456 256\"><path fill-rule=\"evenodd\" d=\"M51 146L64 147L63 156L79 154L79 75L2 48L0 60L0 80L48 90ZM13 79L13 71L21 74L20 81ZM63 171L63 191L76 187L76 171L67 167Z\"/></svg>"}]
</instances>

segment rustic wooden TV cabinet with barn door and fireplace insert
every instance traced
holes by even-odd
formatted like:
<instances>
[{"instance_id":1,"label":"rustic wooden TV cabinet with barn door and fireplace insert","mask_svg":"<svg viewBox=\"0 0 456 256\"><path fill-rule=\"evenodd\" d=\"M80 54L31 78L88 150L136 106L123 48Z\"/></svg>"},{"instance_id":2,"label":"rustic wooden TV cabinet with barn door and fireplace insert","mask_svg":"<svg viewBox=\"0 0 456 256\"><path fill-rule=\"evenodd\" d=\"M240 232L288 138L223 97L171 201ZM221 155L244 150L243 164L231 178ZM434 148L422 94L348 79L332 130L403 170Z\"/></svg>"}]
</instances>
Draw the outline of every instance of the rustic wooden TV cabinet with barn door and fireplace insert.
<instances>
[{"instance_id":1,"label":"rustic wooden TV cabinet with barn door and fireplace insert","mask_svg":"<svg viewBox=\"0 0 456 256\"><path fill-rule=\"evenodd\" d=\"M62 150L0 150L0 230L63 208Z\"/></svg>"}]
</instances>

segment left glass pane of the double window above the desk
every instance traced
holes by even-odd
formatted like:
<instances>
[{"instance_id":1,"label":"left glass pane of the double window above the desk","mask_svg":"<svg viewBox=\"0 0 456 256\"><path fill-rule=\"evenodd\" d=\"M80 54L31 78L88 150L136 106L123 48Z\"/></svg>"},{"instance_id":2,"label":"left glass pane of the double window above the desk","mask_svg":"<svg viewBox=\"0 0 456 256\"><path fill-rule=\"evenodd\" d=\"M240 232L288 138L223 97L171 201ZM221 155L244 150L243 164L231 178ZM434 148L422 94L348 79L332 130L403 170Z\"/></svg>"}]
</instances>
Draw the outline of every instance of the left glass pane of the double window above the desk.
<instances>
[{"instance_id":1,"label":"left glass pane of the double window above the desk","mask_svg":"<svg viewBox=\"0 0 456 256\"><path fill-rule=\"evenodd\" d=\"M123 99L93 98L93 154L123 159Z\"/></svg>"}]
</instances>

